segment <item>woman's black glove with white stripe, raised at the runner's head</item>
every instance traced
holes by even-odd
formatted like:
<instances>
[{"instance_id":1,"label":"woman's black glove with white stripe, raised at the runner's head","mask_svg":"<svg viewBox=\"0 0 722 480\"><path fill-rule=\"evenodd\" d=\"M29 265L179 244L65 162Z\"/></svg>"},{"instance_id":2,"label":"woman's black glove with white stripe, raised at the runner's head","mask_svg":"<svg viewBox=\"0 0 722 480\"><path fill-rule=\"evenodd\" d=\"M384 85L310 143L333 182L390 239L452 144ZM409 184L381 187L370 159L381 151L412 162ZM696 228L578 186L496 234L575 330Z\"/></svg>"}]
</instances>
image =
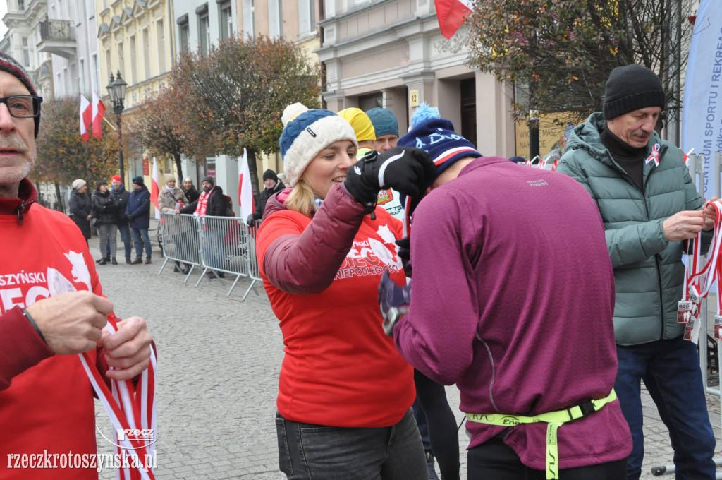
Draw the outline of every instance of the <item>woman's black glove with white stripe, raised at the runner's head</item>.
<instances>
[{"instance_id":1,"label":"woman's black glove with white stripe, raised at the runner's head","mask_svg":"<svg viewBox=\"0 0 722 480\"><path fill-rule=\"evenodd\" d=\"M348 169L346 189L371 212L380 189L392 188L411 197L419 194L426 179L432 178L436 167L424 150L394 147L384 153L371 151Z\"/></svg>"}]
</instances>

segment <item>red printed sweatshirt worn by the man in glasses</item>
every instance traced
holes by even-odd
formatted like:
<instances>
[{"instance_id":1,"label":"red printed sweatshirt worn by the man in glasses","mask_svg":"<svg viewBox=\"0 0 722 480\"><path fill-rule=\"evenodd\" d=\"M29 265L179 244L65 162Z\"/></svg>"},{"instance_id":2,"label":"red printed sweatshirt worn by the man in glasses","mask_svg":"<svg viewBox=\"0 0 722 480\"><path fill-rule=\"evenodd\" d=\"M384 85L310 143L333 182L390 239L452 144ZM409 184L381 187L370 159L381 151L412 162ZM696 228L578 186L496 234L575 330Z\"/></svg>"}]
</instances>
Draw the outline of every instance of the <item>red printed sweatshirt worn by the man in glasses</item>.
<instances>
[{"instance_id":1,"label":"red printed sweatshirt worn by the man in glasses","mask_svg":"<svg viewBox=\"0 0 722 480\"><path fill-rule=\"evenodd\" d=\"M45 450L97 452L92 387L80 360L54 355L20 311L51 291L100 295L95 262L69 218L32 204L37 196L30 181L22 181L19 197L0 199L0 479L97 479L93 468L12 468L9 455L39 454L45 466ZM19 225L22 202L27 208Z\"/></svg>"}]
</instances>

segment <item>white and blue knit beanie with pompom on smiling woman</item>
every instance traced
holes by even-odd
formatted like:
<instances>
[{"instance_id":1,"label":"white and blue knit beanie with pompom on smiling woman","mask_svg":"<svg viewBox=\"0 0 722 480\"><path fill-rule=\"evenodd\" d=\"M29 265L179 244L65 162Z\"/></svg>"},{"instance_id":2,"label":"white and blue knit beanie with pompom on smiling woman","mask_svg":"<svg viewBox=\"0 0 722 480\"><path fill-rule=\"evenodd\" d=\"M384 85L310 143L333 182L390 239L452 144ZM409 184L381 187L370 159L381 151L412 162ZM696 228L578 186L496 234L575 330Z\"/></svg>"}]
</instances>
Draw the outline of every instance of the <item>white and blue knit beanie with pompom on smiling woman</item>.
<instances>
[{"instance_id":1,"label":"white and blue knit beanie with pompom on smiling woman","mask_svg":"<svg viewBox=\"0 0 722 480\"><path fill-rule=\"evenodd\" d=\"M358 150L356 134L348 121L328 110L308 110L300 103L287 106L281 117L283 133L278 141L283 169L291 187L321 150L339 140L350 140Z\"/></svg>"}]
</instances>

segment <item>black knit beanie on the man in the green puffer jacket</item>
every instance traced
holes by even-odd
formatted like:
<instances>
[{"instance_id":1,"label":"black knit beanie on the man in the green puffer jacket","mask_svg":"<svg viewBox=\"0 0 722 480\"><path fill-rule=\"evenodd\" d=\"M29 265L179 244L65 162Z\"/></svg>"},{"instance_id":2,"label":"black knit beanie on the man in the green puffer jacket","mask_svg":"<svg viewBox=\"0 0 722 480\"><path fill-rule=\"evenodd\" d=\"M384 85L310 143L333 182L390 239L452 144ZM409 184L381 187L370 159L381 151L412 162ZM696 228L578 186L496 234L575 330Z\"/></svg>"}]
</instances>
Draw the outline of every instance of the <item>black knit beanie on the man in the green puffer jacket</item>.
<instances>
[{"instance_id":1,"label":"black knit beanie on the man in the green puffer jacket","mask_svg":"<svg viewBox=\"0 0 722 480\"><path fill-rule=\"evenodd\" d=\"M647 107L660 107L664 110L664 90L659 77L647 67L638 64L612 70L604 91L604 119L616 119L630 111Z\"/></svg>"}]
</instances>

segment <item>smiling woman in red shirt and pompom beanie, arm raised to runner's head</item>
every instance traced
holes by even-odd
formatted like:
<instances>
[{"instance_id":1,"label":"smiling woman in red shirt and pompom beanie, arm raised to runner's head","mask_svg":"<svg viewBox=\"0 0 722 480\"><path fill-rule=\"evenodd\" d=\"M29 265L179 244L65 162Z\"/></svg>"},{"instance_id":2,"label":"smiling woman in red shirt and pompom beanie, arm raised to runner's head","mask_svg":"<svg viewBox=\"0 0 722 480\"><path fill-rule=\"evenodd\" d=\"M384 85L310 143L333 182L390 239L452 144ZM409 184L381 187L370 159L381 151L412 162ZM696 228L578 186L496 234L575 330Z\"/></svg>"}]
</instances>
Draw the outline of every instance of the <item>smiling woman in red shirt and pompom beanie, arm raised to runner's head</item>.
<instances>
[{"instance_id":1,"label":"smiling woman in red shirt and pompom beanie, arm raised to runner's head","mask_svg":"<svg viewBox=\"0 0 722 480\"><path fill-rule=\"evenodd\" d=\"M256 247L285 344L279 466L289 479L425 480L413 369L376 302L384 272L405 281L401 224L375 201L381 187L417 192L431 160L396 149L355 163L355 133L335 113L296 103L283 121L291 188L269 199Z\"/></svg>"}]
</instances>

